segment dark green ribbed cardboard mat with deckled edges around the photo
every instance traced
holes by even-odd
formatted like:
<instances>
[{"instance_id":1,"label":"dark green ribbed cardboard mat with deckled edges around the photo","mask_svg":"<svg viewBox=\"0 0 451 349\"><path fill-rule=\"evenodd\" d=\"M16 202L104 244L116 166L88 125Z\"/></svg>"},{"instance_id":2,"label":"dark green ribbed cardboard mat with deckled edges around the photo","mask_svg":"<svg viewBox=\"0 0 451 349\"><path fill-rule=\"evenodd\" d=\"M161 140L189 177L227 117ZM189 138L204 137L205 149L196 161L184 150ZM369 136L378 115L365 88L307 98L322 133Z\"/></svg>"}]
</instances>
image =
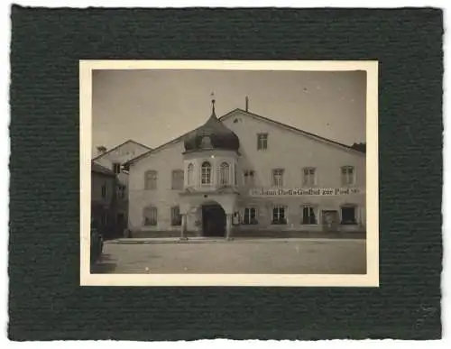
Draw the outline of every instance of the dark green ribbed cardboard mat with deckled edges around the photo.
<instances>
[{"instance_id":1,"label":"dark green ribbed cardboard mat with deckled edges around the photo","mask_svg":"<svg viewBox=\"0 0 451 349\"><path fill-rule=\"evenodd\" d=\"M442 12L14 6L9 337L441 336ZM79 286L78 60L379 60L380 288Z\"/></svg>"}]
</instances>

